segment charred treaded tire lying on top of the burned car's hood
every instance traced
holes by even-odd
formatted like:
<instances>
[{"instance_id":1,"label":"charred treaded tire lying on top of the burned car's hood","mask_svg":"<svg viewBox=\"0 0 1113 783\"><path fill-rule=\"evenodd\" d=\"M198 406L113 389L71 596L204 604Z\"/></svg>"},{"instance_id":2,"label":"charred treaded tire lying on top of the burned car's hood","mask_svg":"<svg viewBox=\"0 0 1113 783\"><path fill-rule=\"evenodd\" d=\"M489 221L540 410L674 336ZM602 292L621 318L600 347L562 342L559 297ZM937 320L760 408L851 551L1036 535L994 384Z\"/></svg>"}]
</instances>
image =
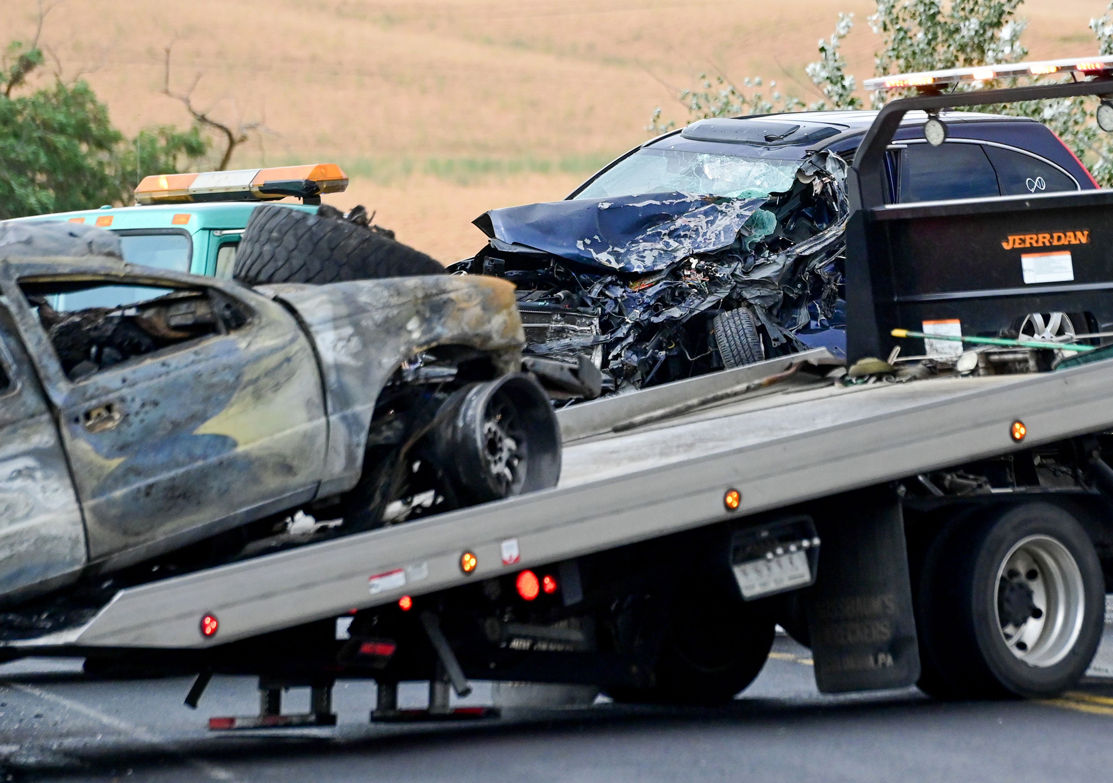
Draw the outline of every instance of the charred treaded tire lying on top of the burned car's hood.
<instances>
[{"instance_id":1,"label":"charred treaded tire lying on top of the burned car's hood","mask_svg":"<svg viewBox=\"0 0 1113 783\"><path fill-rule=\"evenodd\" d=\"M443 274L436 259L365 226L267 204L247 221L233 277L254 286Z\"/></svg>"}]
</instances>

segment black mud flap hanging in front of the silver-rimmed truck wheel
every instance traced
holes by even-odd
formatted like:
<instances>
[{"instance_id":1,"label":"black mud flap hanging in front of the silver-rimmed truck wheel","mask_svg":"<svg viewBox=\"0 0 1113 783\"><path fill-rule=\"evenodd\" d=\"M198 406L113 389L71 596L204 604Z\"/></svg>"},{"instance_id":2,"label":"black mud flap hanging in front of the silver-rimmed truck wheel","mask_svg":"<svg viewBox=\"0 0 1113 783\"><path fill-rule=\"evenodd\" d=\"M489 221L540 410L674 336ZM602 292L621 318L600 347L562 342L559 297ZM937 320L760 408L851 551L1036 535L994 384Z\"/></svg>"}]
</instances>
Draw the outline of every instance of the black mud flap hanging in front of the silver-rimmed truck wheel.
<instances>
[{"instance_id":1,"label":"black mud flap hanging in front of the silver-rimmed truck wheel","mask_svg":"<svg viewBox=\"0 0 1113 783\"><path fill-rule=\"evenodd\" d=\"M823 507L819 574L806 598L816 685L824 693L914 685L919 650L896 494L860 489Z\"/></svg>"}]
</instances>

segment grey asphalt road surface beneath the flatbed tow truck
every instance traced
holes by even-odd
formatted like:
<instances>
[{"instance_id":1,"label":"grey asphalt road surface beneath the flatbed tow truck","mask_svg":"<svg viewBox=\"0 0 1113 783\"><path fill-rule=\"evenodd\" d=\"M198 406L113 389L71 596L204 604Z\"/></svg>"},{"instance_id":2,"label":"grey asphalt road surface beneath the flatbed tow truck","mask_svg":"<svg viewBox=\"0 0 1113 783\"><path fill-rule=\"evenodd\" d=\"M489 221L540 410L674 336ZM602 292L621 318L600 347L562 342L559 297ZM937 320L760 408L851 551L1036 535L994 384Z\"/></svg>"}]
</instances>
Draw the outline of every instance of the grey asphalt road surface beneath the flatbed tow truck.
<instances>
[{"instance_id":1,"label":"grey asphalt road surface beneath the flatbed tow truck","mask_svg":"<svg viewBox=\"0 0 1113 783\"><path fill-rule=\"evenodd\" d=\"M1092 672L1105 671L1101 655ZM374 685L354 683L336 688L335 730L213 734L209 715L257 711L254 681L215 677L196 712L181 704L188 686L91 681L66 661L0 667L0 781L1094 783L1113 774L1113 676L1044 703L943 704L915 688L824 696L808 651L785 638L720 710L597 703L383 726L367 722ZM423 693L413 684L400 696L416 705ZM308 696L293 691L287 702L298 712Z\"/></svg>"}]
</instances>

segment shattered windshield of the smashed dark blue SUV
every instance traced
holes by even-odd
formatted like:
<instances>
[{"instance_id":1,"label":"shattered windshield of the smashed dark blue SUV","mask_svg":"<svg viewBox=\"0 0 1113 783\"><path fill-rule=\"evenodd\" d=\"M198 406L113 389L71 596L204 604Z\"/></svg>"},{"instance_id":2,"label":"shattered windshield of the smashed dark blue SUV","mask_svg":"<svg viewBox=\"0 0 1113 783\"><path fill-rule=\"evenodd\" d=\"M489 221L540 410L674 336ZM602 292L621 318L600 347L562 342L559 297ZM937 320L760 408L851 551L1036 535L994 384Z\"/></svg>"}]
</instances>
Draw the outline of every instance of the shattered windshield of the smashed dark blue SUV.
<instances>
[{"instance_id":1,"label":"shattered windshield of the smashed dark blue SUV","mask_svg":"<svg viewBox=\"0 0 1113 783\"><path fill-rule=\"evenodd\" d=\"M577 194L574 198L615 198L682 192L698 196L752 197L792 187L798 160L743 158L677 149L640 149Z\"/></svg>"}]
</instances>

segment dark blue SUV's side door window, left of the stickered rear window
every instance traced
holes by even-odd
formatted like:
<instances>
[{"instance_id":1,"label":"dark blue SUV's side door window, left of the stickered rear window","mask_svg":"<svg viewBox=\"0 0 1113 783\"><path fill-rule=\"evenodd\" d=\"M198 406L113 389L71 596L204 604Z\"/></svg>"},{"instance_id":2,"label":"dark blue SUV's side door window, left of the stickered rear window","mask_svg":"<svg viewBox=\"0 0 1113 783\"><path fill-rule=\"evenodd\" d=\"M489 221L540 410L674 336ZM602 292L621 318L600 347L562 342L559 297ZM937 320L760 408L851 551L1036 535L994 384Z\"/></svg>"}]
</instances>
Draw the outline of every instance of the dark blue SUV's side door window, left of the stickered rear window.
<instances>
[{"instance_id":1,"label":"dark blue SUV's side door window, left of the stickered rear window","mask_svg":"<svg viewBox=\"0 0 1113 783\"><path fill-rule=\"evenodd\" d=\"M900 172L900 200L942 201L999 196L997 174L982 145L910 143Z\"/></svg>"}]
</instances>

